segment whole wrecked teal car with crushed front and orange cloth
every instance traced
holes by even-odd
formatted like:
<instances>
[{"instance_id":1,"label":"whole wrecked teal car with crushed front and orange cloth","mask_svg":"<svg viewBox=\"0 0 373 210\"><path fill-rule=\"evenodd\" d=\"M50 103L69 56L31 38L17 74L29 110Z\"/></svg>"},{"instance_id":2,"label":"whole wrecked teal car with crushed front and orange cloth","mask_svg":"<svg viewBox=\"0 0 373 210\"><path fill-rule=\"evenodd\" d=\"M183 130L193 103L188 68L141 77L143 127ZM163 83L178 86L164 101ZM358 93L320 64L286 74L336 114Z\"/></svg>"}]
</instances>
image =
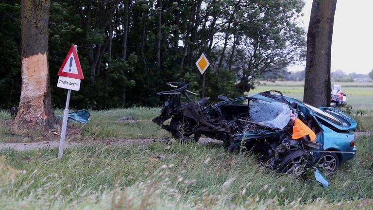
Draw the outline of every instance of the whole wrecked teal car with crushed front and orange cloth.
<instances>
[{"instance_id":1,"label":"whole wrecked teal car with crushed front and orange cloth","mask_svg":"<svg viewBox=\"0 0 373 210\"><path fill-rule=\"evenodd\" d=\"M207 98L190 101L188 84L168 83L160 116L153 119L174 138L198 140L202 135L223 141L230 150L260 155L274 170L302 175L314 167L324 175L356 155L356 121L332 107L316 108L270 90L207 105ZM170 123L165 121L170 119Z\"/></svg>"}]
</instances>

